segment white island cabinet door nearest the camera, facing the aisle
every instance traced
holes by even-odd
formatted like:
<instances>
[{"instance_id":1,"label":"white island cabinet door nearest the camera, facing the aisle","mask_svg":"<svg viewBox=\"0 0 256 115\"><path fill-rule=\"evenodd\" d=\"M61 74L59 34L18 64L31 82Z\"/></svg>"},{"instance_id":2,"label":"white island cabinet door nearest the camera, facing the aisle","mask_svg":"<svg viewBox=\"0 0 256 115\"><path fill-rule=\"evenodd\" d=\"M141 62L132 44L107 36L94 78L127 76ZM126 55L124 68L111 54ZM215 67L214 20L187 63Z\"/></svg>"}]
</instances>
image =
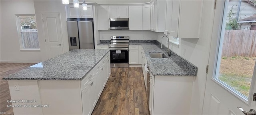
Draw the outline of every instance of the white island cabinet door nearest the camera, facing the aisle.
<instances>
[{"instance_id":1,"label":"white island cabinet door nearest the camera, facing the aisle","mask_svg":"<svg viewBox=\"0 0 256 115\"><path fill-rule=\"evenodd\" d=\"M82 91L82 105L83 105L83 115L90 115L92 113L90 105L90 86L86 86Z\"/></svg>"}]
</instances>

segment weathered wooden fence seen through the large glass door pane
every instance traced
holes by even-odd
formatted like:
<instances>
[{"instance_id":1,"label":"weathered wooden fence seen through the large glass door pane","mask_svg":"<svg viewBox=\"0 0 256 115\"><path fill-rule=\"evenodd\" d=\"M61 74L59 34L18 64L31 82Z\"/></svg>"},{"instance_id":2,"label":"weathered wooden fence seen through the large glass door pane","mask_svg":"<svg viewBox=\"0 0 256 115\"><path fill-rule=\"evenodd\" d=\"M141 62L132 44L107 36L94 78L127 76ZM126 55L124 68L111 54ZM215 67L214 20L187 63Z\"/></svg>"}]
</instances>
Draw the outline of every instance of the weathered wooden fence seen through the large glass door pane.
<instances>
[{"instance_id":1,"label":"weathered wooden fence seen through the large glass door pane","mask_svg":"<svg viewBox=\"0 0 256 115\"><path fill-rule=\"evenodd\" d=\"M223 57L256 57L256 30L226 30Z\"/></svg>"}]
</instances>

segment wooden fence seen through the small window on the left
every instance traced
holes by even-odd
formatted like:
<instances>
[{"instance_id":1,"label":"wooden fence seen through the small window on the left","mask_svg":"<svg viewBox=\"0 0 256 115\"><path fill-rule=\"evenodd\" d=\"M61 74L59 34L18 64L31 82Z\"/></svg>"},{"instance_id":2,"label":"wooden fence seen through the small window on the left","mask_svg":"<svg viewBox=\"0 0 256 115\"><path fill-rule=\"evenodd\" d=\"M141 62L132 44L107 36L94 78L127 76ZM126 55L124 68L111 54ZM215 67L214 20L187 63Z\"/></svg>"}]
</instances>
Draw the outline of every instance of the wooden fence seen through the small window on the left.
<instances>
[{"instance_id":1,"label":"wooden fence seen through the small window on the left","mask_svg":"<svg viewBox=\"0 0 256 115\"><path fill-rule=\"evenodd\" d=\"M39 48L37 32L21 32L24 48Z\"/></svg>"}]
</instances>

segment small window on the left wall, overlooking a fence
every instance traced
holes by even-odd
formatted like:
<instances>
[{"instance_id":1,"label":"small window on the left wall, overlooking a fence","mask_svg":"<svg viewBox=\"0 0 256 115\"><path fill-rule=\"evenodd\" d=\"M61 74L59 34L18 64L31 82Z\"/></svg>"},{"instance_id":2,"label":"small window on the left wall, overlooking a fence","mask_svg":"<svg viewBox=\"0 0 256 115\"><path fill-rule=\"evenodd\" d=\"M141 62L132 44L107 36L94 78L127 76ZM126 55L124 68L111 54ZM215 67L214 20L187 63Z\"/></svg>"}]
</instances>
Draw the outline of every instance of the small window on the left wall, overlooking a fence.
<instances>
[{"instance_id":1,"label":"small window on the left wall, overlooking a fence","mask_svg":"<svg viewBox=\"0 0 256 115\"><path fill-rule=\"evenodd\" d=\"M20 50L40 50L35 15L16 15Z\"/></svg>"}]
</instances>

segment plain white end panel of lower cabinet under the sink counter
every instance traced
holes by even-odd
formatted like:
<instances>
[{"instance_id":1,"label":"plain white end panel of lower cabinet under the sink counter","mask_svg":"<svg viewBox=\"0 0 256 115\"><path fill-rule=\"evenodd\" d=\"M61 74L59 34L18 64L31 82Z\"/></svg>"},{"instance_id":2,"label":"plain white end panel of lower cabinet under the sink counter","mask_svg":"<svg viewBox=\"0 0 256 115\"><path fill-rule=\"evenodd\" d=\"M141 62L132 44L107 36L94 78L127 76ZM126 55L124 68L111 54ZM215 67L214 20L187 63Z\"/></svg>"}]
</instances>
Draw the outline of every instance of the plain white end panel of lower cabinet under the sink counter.
<instances>
[{"instance_id":1,"label":"plain white end panel of lower cabinet under the sink counter","mask_svg":"<svg viewBox=\"0 0 256 115\"><path fill-rule=\"evenodd\" d=\"M195 76L151 76L150 115L189 115Z\"/></svg>"}]
</instances>

